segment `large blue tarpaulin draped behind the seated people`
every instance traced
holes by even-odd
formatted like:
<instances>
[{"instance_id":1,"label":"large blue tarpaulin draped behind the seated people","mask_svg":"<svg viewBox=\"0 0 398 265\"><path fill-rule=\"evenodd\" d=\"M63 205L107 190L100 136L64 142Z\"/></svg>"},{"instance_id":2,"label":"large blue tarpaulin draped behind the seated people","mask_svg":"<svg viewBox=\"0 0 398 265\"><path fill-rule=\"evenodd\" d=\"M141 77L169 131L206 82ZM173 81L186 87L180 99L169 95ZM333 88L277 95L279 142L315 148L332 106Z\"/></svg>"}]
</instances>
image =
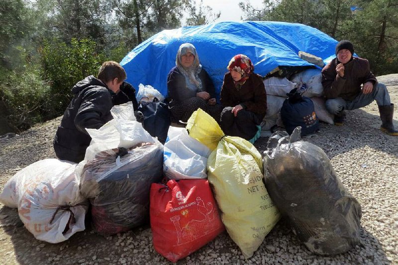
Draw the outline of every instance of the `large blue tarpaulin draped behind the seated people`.
<instances>
[{"instance_id":1,"label":"large blue tarpaulin draped behind the seated people","mask_svg":"<svg viewBox=\"0 0 398 265\"><path fill-rule=\"evenodd\" d=\"M219 92L229 60L236 54L249 56L254 71L265 76L278 66L311 66L298 51L322 58L335 57L337 41L310 26L286 22L219 22L163 30L130 51L121 61L127 82L134 87L151 85L167 95L167 74L175 66L182 43L195 45L199 61Z\"/></svg>"}]
</instances>

